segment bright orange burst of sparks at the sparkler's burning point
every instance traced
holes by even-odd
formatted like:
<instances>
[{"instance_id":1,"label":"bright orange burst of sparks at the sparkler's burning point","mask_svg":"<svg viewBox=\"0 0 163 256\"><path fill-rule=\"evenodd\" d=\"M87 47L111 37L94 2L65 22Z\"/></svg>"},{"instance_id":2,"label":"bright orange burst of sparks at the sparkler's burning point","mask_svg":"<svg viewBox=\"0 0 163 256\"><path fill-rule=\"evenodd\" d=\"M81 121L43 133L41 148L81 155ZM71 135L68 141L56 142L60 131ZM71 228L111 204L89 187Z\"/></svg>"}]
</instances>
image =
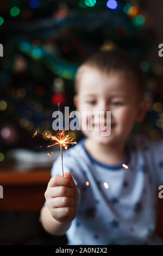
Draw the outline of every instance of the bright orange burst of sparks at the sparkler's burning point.
<instances>
[{"instance_id":1,"label":"bright orange burst of sparks at the sparkler's burning point","mask_svg":"<svg viewBox=\"0 0 163 256\"><path fill-rule=\"evenodd\" d=\"M51 139L51 141L56 141L54 144L48 145L47 148L58 144L58 145L61 145L61 147L64 147L67 151L68 144L77 144L76 141L72 142L73 139L69 135L64 134L64 130L61 133L59 133L57 136L53 136L51 134L45 133L45 137L48 139Z\"/></svg>"}]
</instances>

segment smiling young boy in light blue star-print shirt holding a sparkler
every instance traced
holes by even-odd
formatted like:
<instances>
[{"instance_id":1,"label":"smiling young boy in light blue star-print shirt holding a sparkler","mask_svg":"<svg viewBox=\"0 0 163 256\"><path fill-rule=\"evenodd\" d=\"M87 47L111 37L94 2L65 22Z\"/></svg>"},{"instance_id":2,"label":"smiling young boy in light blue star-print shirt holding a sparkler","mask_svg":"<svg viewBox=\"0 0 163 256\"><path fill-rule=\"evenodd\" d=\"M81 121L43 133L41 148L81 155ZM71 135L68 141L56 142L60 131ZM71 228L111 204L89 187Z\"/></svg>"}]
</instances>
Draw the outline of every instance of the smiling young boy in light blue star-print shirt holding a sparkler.
<instances>
[{"instance_id":1,"label":"smiling young boy in light blue star-print shirt holding a sparkler","mask_svg":"<svg viewBox=\"0 0 163 256\"><path fill-rule=\"evenodd\" d=\"M163 244L155 235L163 142L132 132L147 111L143 83L139 65L120 50L96 53L78 69L77 110L104 111L105 124L111 111L111 133L101 136L95 120L97 129L84 130L64 154L64 177L61 157L53 164L41 222L66 234L68 245Z\"/></svg>"}]
</instances>

